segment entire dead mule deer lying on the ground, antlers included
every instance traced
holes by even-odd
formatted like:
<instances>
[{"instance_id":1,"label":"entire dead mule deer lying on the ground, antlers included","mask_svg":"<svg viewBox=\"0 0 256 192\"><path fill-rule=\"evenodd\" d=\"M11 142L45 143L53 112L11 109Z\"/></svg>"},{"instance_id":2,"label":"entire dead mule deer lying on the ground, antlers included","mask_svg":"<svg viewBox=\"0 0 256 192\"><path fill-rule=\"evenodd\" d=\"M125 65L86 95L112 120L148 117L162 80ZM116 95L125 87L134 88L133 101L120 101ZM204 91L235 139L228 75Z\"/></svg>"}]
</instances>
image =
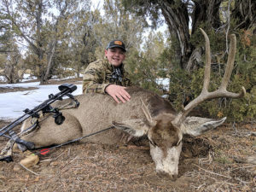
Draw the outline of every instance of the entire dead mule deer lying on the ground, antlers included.
<instances>
[{"instance_id":1,"label":"entire dead mule deer lying on the ground, antlers included","mask_svg":"<svg viewBox=\"0 0 256 192\"><path fill-rule=\"evenodd\" d=\"M172 104L164 98L137 87L129 87L131 101L117 104L108 95L88 94L76 96L79 108L62 111L66 120L55 125L54 119L45 118L38 129L30 132L22 139L35 143L36 147L64 143L77 137L100 131L111 125L113 129L104 134L90 137L90 141L101 143L119 142L119 132L125 131L134 137L148 136L150 154L156 166L156 172L170 177L177 176L178 160L182 149L184 134L198 136L202 132L221 125L225 118L214 120L200 117L188 117L189 112L201 102L218 97L239 98L246 94L244 87L236 94L226 90L234 66L236 54L236 36L231 35L230 52L224 78L218 90L208 92L210 83L211 55L210 43L206 32L201 30L206 40L206 67L201 95L189 102L183 111L177 113ZM70 99L61 101L61 104ZM28 127L27 120L23 125Z\"/></svg>"}]
</instances>

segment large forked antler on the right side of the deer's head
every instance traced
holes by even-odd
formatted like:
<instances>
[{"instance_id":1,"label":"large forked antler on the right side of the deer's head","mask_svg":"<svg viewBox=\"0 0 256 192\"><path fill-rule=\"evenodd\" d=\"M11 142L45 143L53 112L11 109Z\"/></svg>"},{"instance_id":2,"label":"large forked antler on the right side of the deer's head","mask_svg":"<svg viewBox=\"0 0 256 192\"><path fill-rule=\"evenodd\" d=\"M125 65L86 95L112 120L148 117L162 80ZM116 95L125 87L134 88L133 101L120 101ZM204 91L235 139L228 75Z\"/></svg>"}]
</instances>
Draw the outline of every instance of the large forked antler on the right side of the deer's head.
<instances>
[{"instance_id":1,"label":"large forked antler on the right side of the deer's head","mask_svg":"<svg viewBox=\"0 0 256 192\"><path fill-rule=\"evenodd\" d=\"M234 61L235 61L235 55L236 55L236 35L235 34L231 35L229 57L228 57L222 82L218 90L215 90L213 92L208 91L208 87L210 83L210 72L211 72L210 41L207 36L207 33L204 32L202 29L200 30L204 35L204 38L206 41L206 67L205 67L205 73L204 73L203 88L201 90L201 94L197 96L192 102L189 102L189 104L183 109L183 112L180 112L177 114L177 117L172 121L172 123L176 125L179 125L181 122L183 122L183 120L189 114L189 112L193 108L198 106L201 102L205 102L206 100L210 100L218 97L239 98L239 97L245 96L246 94L246 90L243 86L241 87L241 93L233 93L226 90L227 84L229 83L230 76L234 67Z\"/></svg>"}]
</instances>

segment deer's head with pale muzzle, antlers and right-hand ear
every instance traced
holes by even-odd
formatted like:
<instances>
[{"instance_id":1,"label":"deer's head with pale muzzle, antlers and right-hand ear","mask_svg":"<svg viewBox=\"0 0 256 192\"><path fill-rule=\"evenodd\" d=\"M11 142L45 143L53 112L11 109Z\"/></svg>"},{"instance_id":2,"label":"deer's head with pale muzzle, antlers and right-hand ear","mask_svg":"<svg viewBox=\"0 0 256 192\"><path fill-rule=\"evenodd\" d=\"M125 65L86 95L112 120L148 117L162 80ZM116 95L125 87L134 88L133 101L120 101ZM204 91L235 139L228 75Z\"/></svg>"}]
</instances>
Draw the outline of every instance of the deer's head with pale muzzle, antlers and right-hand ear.
<instances>
[{"instance_id":1,"label":"deer's head with pale muzzle, antlers and right-hand ear","mask_svg":"<svg viewBox=\"0 0 256 192\"><path fill-rule=\"evenodd\" d=\"M148 139L150 141L150 154L155 162L156 171L171 177L177 176L177 165L182 149L183 135L189 134L198 136L204 131L221 125L226 119L214 120L199 117L187 117L189 112L206 100L218 97L239 98L246 94L244 87L241 87L240 94L226 90L235 61L236 36L234 34L231 35L229 57L222 83L218 90L213 92L208 91L211 69L210 43L206 32L202 29L201 32L206 40L206 67L203 88L200 96L189 102L189 104L183 108L183 111L179 113L160 113L154 118L150 116L149 110L145 104L142 104L143 112L145 113L148 122L153 125L148 129Z\"/></svg>"}]
</instances>

